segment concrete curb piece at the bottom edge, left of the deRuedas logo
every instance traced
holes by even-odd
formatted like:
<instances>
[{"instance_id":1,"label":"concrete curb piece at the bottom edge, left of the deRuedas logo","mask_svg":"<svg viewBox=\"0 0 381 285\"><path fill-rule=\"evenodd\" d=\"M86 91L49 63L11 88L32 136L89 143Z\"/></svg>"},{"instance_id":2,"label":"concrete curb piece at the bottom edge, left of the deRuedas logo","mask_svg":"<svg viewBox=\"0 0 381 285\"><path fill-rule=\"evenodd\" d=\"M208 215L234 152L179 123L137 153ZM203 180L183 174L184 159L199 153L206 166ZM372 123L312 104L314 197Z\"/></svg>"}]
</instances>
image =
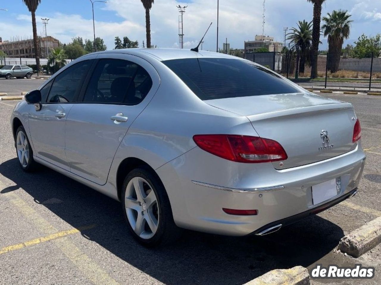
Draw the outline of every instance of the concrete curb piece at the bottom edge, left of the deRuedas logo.
<instances>
[{"instance_id":1,"label":"concrete curb piece at the bottom edge, left of the deRuedas logo","mask_svg":"<svg viewBox=\"0 0 381 285\"><path fill-rule=\"evenodd\" d=\"M275 269L251 280L244 285L309 285L307 268L295 266L291 269Z\"/></svg>"}]
</instances>

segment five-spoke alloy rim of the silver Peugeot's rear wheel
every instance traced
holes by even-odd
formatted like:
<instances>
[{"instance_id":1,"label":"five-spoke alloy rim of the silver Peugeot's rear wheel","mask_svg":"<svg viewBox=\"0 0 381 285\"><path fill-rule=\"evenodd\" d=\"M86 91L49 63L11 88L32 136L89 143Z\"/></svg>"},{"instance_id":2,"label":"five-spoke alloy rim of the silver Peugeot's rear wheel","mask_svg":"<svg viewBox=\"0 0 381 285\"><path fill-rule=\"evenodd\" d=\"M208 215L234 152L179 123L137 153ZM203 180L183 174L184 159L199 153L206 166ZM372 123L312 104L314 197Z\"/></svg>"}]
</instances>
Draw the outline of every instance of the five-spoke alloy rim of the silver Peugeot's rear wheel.
<instances>
[{"instance_id":1,"label":"five-spoke alloy rim of the silver Peugeot's rear wheel","mask_svg":"<svg viewBox=\"0 0 381 285\"><path fill-rule=\"evenodd\" d=\"M125 207L128 222L142 239L150 239L157 231L159 210L152 186L142 177L133 177L127 184Z\"/></svg>"}]
</instances>

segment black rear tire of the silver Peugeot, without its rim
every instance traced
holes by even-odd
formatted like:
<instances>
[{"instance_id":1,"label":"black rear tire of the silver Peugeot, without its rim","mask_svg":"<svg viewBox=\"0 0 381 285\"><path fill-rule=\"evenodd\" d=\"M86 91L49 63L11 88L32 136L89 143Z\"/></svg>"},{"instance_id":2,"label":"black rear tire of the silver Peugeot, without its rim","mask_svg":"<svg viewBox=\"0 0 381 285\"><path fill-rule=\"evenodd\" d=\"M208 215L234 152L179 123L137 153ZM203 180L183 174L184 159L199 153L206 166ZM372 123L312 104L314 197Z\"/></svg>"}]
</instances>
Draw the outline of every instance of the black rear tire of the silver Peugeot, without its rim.
<instances>
[{"instance_id":1,"label":"black rear tire of the silver Peugeot, without its rim","mask_svg":"<svg viewBox=\"0 0 381 285\"><path fill-rule=\"evenodd\" d=\"M149 183L149 186L152 188L152 190L154 190L157 198L157 208L159 214L158 227L154 236L152 236L149 239L144 239L138 236L138 234L136 234L134 229L132 228L127 217L125 206L125 193L128 182L130 182L130 180L134 177L141 177L144 180L146 180ZM130 230L132 236L134 237L134 239L136 239L136 241L138 241L140 244L146 247L157 247L171 244L181 236L182 230L178 228L178 226L176 226L174 223L171 204L168 195L165 191L164 185L162 184L156 173L153 173L152 170L150 170L148 167L136 168L132 170L130 173L128 173L123 182L122 189L123 215L125 217L128 229Z\"/></svg>"}]
</instances>

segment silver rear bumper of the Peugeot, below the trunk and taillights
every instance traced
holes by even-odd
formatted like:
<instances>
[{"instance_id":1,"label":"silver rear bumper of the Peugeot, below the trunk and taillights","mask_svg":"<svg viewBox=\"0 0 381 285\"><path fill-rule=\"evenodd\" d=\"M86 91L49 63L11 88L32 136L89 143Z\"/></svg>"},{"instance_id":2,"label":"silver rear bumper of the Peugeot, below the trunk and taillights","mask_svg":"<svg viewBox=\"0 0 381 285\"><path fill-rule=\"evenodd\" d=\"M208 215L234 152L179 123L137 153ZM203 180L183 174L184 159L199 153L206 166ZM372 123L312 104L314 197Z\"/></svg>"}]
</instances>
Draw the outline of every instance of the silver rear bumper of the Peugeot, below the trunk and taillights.
<instances>
[{"instance_id":1,"label":"silver rear bumper of the Peugeot, below the trunk and taillights","mask_svg":"<svg viewBox=\"0 0 381 285\"><path fill-rule=\"evenodd\" d=\"M176 225L246 236L281 220L289 224L343 201L358 187L364 165L360 143L338 157L283 170L274 169L271 163L235 163L195 147L156 171L170 198ZM341 180L338 194L314 204L312 186L334 178ZM223 208L256 209L258 215L229 215Z\"/></svg>"}]
</instances>

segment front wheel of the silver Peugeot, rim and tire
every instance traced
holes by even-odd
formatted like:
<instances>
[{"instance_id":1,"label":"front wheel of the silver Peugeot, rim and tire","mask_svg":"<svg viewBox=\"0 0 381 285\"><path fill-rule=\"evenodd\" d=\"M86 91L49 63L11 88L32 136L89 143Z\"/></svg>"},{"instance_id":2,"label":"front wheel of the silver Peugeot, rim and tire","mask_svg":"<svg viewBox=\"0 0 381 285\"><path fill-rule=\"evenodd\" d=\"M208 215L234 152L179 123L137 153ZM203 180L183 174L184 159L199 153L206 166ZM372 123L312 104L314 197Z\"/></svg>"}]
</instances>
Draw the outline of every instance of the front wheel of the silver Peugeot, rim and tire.
<instances>
[{"instance_id":1,"label":"front wheel of the silver Peugeot, rim and tire","mask_svg":"<svg viewBox=\"0 0 381 285\"><path fill-rule=\"evenodd\" d=\"M16 131L16 152L20 166L24 171L32 171L37 163L33 159L33 151L24 127L20 126Z\"/></svg>"}]
</instances>

